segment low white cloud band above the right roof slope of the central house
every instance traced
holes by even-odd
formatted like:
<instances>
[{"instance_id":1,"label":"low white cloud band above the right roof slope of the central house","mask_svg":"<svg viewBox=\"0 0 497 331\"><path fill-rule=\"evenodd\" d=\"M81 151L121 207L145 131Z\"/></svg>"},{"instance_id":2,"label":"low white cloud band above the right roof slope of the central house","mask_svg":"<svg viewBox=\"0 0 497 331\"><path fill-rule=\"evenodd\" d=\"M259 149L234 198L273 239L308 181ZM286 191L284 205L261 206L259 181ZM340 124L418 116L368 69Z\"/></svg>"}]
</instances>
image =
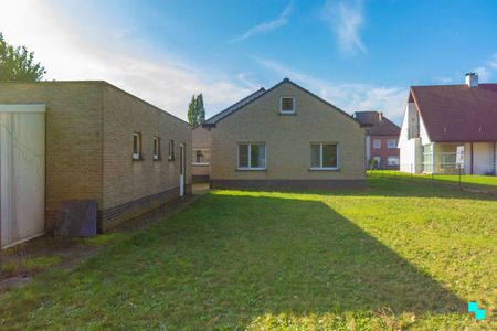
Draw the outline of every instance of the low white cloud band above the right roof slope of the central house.
<instances>
[{"instance_id":1,"label":"low white cloud band above the right roof slope of the central house","mask_svg":"<svg viewBox=\"0 0 497 331\"><path fill-rule=\"evenodd\" d=\"M302 84L349 114L362 110L379 110L396 124L402 120L409 87L322 81L286 68L273 61L260 57L255 61L275 74Z\"/></svg>"}]
</instances>

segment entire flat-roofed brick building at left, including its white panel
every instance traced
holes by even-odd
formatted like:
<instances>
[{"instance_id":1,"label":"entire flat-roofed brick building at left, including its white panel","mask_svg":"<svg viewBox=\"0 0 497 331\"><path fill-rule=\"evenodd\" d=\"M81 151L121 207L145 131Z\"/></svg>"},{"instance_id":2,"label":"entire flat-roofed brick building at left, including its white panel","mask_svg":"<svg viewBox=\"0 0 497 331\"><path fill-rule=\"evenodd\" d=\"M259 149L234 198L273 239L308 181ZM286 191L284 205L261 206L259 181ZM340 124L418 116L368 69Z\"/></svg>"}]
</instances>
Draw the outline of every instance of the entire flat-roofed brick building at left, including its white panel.
<instances>
[{"instance_id":1,"label":"entire flat-roofed brick building at left, including its white panel","mask_svg":"<svg viewBox=\"0 0 497 331\"><path fill-rule=\"evenodd\" d=\"M106 83L0 83L1 243L96 200L99 231L191 190L187 122Z\"/></svg>"}]
</instances>

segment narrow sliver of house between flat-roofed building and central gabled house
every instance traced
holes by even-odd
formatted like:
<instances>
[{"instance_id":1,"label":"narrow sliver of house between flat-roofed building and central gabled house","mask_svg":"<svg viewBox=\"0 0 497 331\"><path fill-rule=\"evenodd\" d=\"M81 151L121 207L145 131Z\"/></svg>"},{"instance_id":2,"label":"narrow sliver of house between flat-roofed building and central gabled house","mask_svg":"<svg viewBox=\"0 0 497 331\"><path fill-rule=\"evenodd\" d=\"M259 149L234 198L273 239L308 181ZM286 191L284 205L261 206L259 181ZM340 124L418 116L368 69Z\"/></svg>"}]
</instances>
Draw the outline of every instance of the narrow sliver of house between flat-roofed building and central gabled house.
<instances>
[{"instance_id":1,"label":"narrow sliver of house between flat-roofed building and central gabled house","mask_svg":"<svg viewBox=\"0 0 497 331\"><path fill-rule=\"evenodd\" d=\"M207 128L201 125L192 130L192 177L193 183L209 182L211 138Z\"/></svg>"}]
</instances>

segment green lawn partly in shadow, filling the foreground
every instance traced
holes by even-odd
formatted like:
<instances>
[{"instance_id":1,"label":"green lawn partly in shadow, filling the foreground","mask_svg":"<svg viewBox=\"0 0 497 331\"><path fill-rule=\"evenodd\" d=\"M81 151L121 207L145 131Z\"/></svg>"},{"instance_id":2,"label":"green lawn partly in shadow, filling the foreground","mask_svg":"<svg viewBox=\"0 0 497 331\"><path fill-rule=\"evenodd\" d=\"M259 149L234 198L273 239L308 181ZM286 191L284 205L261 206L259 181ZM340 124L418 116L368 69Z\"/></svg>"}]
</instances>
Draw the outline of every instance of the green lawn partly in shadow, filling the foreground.
<instances>
[{"instance_id":1,"label":"green lawn partly in shadow, filling the foreground","mask_svg":"<svg viewBox=\"0 0 497 331\"><path fill-rule=\"evenodd\" d=\"M211 192L4 293L0 329L497 329L495 197L368 181Z\"/></svg>"}]
</instances>

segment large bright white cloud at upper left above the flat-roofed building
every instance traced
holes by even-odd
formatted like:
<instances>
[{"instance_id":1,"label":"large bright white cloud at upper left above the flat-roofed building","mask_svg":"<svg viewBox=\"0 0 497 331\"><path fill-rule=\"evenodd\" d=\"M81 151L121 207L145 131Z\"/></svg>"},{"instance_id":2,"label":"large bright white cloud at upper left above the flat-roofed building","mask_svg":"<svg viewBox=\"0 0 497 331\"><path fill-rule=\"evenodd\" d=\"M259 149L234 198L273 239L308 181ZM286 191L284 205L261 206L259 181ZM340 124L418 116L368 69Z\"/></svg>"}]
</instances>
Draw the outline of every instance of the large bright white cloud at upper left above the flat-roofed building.
<instances>
[{"instance_id":1,"label":"large bright white cloud at upper left above the flat-roofed building","mask_svg":"<svg viewBox=\"0 0 497 331\"><path fill-rule=\"evenodd\" d=\"M203 93L209 116L252 92L243 79L199 72L170 54L151 57L139 41L119 39L130 28L102 26L99 35L88 35L50 3L17 0L0 11L0 32L10 44L34 51L46 79L104 79L183 119L192 94Z\"/></svg>"}]
</instances>

